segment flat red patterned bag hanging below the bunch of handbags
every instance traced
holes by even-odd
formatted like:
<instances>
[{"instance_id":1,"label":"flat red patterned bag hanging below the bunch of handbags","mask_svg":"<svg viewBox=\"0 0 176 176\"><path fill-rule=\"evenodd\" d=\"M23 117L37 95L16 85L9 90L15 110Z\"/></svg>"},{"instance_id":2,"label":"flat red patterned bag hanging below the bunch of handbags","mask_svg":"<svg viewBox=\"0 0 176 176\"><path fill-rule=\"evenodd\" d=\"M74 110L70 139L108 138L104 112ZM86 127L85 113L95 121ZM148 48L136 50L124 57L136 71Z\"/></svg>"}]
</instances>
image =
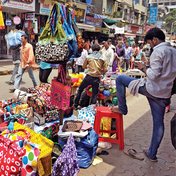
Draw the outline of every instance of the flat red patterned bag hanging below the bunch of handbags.
<instances>
[{"instance_id":1,"label":"flat red patterned bag hanging below the bunch of handbags","mask_svg":"<svg viewBox=\"0 0 176 176\"><path fill-rule=\"evenodd\" d=\"M71 87L66 85L66 74L63 67L60 66L58 77L51 82L51 105L65 111L70 107L70 96Z\"/></svg>"}]
</instances>

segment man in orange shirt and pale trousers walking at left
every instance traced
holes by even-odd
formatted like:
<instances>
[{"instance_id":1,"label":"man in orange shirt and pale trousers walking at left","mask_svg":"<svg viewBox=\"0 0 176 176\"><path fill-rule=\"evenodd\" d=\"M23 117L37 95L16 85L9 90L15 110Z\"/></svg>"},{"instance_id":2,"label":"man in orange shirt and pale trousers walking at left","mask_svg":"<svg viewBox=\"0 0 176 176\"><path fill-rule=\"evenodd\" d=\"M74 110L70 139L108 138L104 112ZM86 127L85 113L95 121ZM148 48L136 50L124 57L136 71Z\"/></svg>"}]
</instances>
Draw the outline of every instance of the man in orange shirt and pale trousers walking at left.
<instances>
[{"instance_id":1,"label":"man in orange shirt and pale trousers walking at left","mask_svg":"<svg viewBox=\"0 0 176 176\"><path fill-rule=\"evenodd\" d=\"M14 92L15 89L18 89L20 87L22 76L25 70L28 71L29 77L31 78L34 87L37 86L37 82L34 77L33 69L37 68L38 66L35 63L33 47L30 43L28 43L27 35L22 35L21 41L22 41L22 46L20 48L20 55L21 55L20 67L15 77L14 88L10 89L10 92Z\"/></svg>"}]
</instances>

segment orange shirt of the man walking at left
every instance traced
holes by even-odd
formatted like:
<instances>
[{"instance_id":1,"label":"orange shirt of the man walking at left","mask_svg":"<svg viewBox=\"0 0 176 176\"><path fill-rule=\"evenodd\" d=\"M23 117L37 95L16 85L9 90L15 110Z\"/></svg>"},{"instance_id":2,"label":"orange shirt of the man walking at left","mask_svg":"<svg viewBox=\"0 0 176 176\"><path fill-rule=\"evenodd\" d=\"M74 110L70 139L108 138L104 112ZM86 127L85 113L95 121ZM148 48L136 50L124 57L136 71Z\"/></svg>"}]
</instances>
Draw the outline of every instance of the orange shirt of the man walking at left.
<instances>
[{"instance_id":1,"label":"orange shirt of the man walking at left","mask_svg":"<svg viewBox=\"0 0 176 176\"><path fill-rule=\"evenodd\" d=\"M32 67L37 68L38 65L35 63L35 57L33 47L30 43L26 43L25 46L21 46L21 67Z\"/></svg>"}]
</instances>

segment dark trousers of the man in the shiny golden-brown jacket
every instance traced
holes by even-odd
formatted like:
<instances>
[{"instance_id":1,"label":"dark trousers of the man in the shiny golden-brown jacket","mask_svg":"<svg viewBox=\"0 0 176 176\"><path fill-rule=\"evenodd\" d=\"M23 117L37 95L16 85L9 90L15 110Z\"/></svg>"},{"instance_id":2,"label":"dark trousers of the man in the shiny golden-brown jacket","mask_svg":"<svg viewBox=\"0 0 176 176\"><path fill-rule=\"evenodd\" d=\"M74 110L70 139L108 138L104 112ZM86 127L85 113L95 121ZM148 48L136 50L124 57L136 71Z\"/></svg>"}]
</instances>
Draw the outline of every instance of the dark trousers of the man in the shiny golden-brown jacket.
<instances>
[{"instance_id":1,"label":"dark trousers of the man in the shiny golden-brown jacket","mask_svg":"<svg viewBox=\"0 0 176 176\"><path fill-rule=\"evenodd\" d=\"M79 100L81 98L81 94L84 91L84 89L91 85L92 86L92 98L91 98L91 104L96 104L97 102L97 95L98 95L98 89L100 84L100 78L92 77L90 75L86 75L83 82L81 83L77 96L75 98L75 107L79 105Z\"/></svg>"}]
</instances>

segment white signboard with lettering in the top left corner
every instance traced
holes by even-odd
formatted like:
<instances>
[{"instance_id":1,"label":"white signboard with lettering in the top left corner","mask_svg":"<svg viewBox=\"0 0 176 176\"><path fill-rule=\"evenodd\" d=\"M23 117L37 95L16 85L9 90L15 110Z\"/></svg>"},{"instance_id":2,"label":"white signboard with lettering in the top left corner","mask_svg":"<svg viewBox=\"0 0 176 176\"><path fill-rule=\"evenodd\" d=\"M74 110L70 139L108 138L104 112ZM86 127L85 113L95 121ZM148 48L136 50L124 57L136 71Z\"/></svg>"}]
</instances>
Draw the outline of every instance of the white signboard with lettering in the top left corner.
<instances>
[{"instance_id":1,"label":"white signboard with lettering in the top left corner","mask_svg":"<svg viewBox=\"0 0 176 176\"><path fill-rule=\"evenodd\" d=\"M35 0L24 1L24 2L19 2L18 0L13 0L13 1L9 0L3 6L34 12Z\"/></svg>"}]
</instances>

